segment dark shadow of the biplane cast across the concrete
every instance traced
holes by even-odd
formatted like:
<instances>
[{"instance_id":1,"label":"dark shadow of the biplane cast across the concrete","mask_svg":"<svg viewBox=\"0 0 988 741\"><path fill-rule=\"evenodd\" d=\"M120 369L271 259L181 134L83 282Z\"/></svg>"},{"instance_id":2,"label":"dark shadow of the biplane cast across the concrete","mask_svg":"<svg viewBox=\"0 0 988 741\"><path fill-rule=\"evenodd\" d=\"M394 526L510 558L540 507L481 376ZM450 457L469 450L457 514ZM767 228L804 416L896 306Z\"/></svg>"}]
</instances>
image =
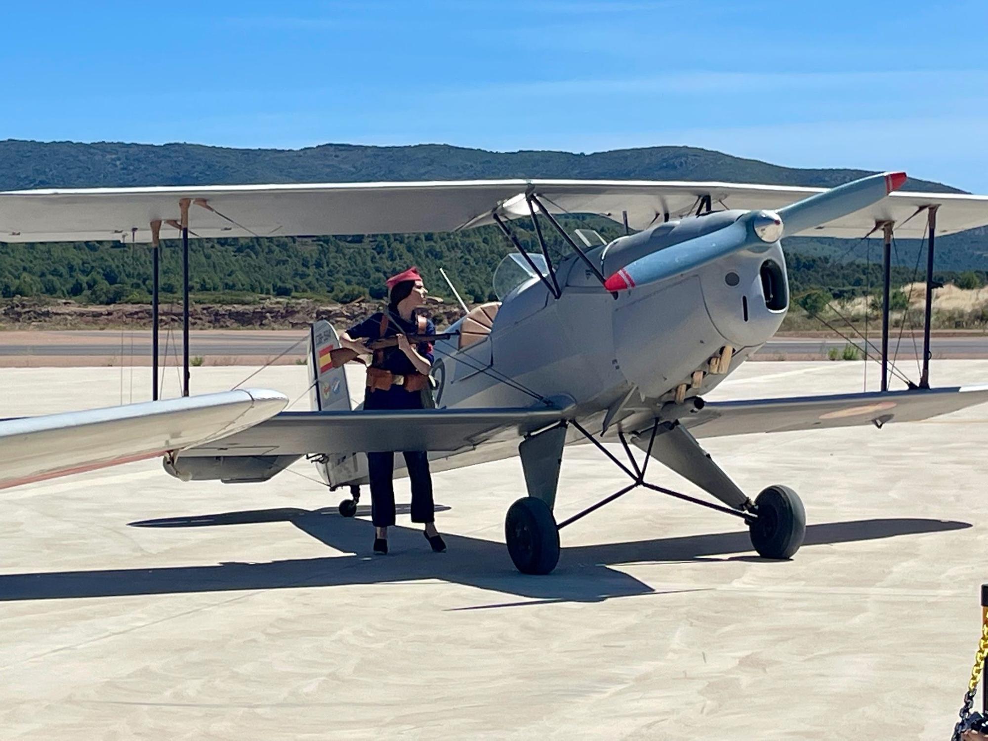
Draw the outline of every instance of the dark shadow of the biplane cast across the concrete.
<instances>
[{"instance_id":1,"label":"dark shadow of the biplane cast across the concrete","mask_svg":"<svg viewBox=\"0 0 988 741\"><path fill-rule=\"evenodd\" d=\"M404 509L407 510L407 506ZM399 513L401 511L399 506ZM333 587L425 579L465 584L528 600L599 602L612 597L656 594L634 577L608 568L610 565L720 560L716 557L744 556L752 552L747 531L579 545L563 548L559 566L551 575L526 576L515 570L504 543L444 535L449 552L437 554L429 550L421 531L404 527L389 530L391 554L371 556L371 523L340 517L335 508L251 510L145 520L131 525L202 528L275 522L290 522L345 555L263 563L8 574L0 576L0 602ZM970 527L968 523L956 521L908 518L824 523L806 528L804 545L940 533ZM485 607L512 604L528 602Z\"/></svg>"}]
</instances>

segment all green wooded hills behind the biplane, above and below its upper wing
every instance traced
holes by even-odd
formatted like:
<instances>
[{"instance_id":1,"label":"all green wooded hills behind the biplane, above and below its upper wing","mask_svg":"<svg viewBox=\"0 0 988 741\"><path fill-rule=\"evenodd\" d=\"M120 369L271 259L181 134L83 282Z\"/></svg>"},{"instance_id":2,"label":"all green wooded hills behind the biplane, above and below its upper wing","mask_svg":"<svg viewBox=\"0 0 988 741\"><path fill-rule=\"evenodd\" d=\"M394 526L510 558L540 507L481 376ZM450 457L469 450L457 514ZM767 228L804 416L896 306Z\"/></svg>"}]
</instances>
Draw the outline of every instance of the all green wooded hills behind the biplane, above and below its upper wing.
<instances>
[{"instance_id":1,"label":"all green wooded hills behind the biplane, above and below its upper wing","mask_svg":"<svg viewBox=\"0 0 988 741\"><path fill-rule=\"evenodd\" d=\"M0 189L109 187L228 183L360 182L469 178L613 178L713 180L780 185L834 186L861 170L803 170L732 157L695 147L647 147L596 154L553 151L490 152L440 144L402 147L325 144L299 150L229 149L192 144L164 146L98 142L0 141ZM911 180L908 189L955 191ZM537 244L531 224L514 222L528 247ZM603 217L562 219L570 231L597 229L606 239L621 227ZM553 236L551 231L548 236ZM165 242L162 298L180 299L181 258ZM938 238L936 278L961 288L984 285L988 231ZM877 240L796 237L785 240L792 294L808 312L831 300L880 292ZM916 240L893 252L893 286L916 277ZM556 257L567 253L553 242ZM384 279L418 265L430 289L452 294L439 274L445 267L468 301L493 297L491 276L512 249L494 227L461 233L378 234L318 238L193 240L193 300L256 303L275 295L316 300L380 298ZM959 276L957 272L963 271ZM919 280L923 279L922 266ZM143 246L98 243L0 246L0 296L70 298L82 303L146 303L151 291L151 253ZM905 296L893 295L893 308ZM880 299L879 299L880 301Z\"/></svg>"}]
</instances>

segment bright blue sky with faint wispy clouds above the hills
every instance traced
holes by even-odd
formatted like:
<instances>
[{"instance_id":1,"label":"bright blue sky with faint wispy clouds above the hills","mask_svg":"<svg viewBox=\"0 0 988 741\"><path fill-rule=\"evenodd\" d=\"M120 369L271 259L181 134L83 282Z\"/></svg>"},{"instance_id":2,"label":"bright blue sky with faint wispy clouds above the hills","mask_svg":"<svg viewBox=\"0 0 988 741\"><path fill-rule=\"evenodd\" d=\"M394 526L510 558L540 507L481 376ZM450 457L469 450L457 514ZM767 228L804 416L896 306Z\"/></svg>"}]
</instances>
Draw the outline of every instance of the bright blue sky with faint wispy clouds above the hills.
<instances>
[{"instance_id":1,"label":"bright blue sky with faint wispy clouds above the hills","mask_svg":"<svg viewBox=\"0 0 988 741\"><path fill-rule=\"evenodd\" d=\"M0 3L0 138L689 144L988 193L986 0Z\"/></svg>"}]
</instances>

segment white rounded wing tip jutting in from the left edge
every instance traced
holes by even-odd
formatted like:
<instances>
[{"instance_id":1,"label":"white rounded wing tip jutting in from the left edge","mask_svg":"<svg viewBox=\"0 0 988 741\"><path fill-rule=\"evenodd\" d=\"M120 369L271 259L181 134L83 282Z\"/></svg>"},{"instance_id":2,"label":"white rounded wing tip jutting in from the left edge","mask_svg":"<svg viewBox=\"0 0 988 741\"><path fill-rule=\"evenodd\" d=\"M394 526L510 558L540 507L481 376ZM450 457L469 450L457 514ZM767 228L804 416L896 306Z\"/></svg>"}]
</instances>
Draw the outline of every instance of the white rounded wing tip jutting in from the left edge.
<instances>
[{"instance_id":1,"label":"white rounded wing tip jutting in from the left edge","mask_svg":"<svg viewBox=\"0 0 988 741\"><path fill-rule=\"evenodd\" d=\"M277 414L288 397L240 388L0 421L0 489L205 443Z\"/></svg>"}]
</instances>

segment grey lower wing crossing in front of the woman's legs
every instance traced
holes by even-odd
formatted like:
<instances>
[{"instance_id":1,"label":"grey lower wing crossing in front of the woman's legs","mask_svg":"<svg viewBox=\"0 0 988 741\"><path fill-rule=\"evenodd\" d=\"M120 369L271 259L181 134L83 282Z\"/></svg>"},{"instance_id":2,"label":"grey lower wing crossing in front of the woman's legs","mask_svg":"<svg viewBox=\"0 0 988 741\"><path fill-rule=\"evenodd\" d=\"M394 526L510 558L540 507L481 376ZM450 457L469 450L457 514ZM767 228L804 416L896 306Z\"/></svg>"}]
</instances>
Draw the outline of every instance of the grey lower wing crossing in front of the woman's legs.
<instances>
[{"instance_id":1,"label":"grey lower wing crossing in front of the woman's legs","mask_svg":"<svg viewBox=\"0 0 988 741\"><path fill-rule=\"evenodd\" d=\"M516 442L566 418L566 410L411 409L282 412L267 422L182 454L304 455L469 450L499 437Z\"/></svg>"}]
</instances>

